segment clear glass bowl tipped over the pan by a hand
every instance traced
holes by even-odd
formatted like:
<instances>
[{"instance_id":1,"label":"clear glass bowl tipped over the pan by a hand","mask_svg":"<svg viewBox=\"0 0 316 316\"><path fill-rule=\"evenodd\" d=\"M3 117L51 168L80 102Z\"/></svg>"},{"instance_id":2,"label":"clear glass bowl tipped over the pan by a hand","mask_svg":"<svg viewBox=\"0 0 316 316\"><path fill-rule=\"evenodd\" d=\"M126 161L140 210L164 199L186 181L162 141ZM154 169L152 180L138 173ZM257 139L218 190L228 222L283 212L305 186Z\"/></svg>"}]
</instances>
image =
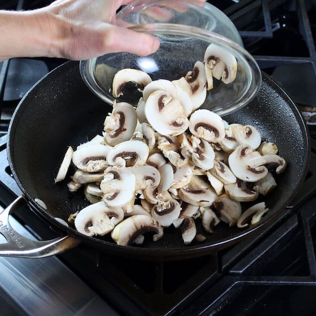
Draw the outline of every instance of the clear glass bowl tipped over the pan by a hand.
<instances>
[{"instance_id":1,"label":"clear glass bowl tipped over the pan by a hand","mask_svg":"<svg viewBox=\"0 0 316 316\"><path fill-rule=\"evenodd\" d=\"M195 0L135 1L116 17L121 26L156 36L160 48L154 54L139 57L130 53L106 54L80 62L80 73L87 86L102 100L112 104L114 75L121 69L139 69L152 80L177 80L192 71L197 61L204 61L206 48L216 44L237 59L236 79L229 84L214 79L201 108L219 115L246 105L259 91L261 72L254 58L243 48L233 23L214 6ZM141 93L126 85L118 102L136 105Z\"/></svg>"}]
</instances>

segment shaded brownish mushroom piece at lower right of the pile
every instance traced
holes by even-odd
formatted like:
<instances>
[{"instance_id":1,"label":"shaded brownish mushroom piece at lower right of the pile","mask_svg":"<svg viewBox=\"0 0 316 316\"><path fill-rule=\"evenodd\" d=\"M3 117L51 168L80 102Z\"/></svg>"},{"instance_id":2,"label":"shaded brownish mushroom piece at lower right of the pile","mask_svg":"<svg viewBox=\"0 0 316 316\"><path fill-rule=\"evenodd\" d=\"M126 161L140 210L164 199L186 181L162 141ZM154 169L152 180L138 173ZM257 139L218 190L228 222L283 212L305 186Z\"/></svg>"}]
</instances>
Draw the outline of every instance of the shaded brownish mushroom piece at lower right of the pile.
<instances>
[{"instance_id":1,"label":"shaded brownish mushroom piece at lower right of the pile","mask_svg":"<svg viewBox=\"0 0 316 316\"><path fill-rule=\"evenodd\" d=\"M229 224L230 227L236 225L241 215L241 204L230 199L226 194L221 195L213 204L216 214L220 219Z\"/></svg>"}]
</instances>

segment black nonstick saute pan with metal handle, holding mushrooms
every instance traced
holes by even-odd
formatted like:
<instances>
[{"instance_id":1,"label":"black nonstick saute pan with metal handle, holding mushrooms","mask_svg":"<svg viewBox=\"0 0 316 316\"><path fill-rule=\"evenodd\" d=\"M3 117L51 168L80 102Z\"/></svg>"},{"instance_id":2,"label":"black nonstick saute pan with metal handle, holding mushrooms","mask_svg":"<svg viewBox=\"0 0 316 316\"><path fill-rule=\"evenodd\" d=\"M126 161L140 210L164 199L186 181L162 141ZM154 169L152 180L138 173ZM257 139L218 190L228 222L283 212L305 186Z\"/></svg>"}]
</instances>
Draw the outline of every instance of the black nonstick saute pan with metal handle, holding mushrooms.
<instances>
[{"instance_id":1,"label":"black nonstick saute pan with metal handle, holding mushrooms","mask_svg":"<svg viewBox=\"0 0 316 316\"><path fill-rule=\"evenodd\" d=\"M109 236L84 236L56 220L61 218L67 221L70 214L88 205L82 192L70 193L66 186L74 169L69 171L65 181L54 183L65 151L69 145L76 148L96 134L101 134L104 118L111 108L83 83L78 62L67 62L49 73L25 95L14 113L8 136L9 163L29 206L61 233L75 238L61 237L50 241L39 251L33 250L32 245L25 245L22 237L18 236L20 239L17 237L18 241L16 238L13 243L18 250L8 248L0 254L28 257L51 255L74 246L80 240L107 253L143 259L181 259L227 247L268 221L275 220L305 178L310 144L308 131L296 106L270 77L264 73L262 76L258 95L247 106L224 118L230 123L254 125L263 140L278 145L279 154L288 163L286 172L276 177L278 187L264 198L266 206L270 208L269 213L258 225L244 230L220 223L212 235L204 233L197 220L199 232L207 237L202 243L194 241L191 245L185 245L181 231L170 227L165 229L164 237L159 241L153 242L151 236L146 236L143 245L125 247L116 245ZM47 210L36 199L44 201ZM21 200L20 197L18 201ZM16 207L16 203L9 211ZM0 225L2 223L6 224L0 221ZM0 226L1 231L4 230ZM11 235L14 233L11 231ZM7 234L7 238L11 237L10 233L9 237Z\"/></svg>"}]
</instances>

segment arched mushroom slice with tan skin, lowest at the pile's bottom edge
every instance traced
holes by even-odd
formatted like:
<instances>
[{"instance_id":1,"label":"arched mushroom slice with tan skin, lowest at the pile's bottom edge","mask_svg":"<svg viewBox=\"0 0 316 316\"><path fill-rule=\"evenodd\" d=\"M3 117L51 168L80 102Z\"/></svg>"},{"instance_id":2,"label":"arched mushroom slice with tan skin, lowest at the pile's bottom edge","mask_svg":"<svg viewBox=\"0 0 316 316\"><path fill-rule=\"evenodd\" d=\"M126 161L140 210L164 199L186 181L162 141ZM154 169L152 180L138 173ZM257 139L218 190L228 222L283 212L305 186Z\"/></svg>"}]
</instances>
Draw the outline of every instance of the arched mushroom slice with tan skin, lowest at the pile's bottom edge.
<instances>
[{"instance_id":1,"label":"arched mushroom slice with tan skin, lowest at the pile's bottom edge","mask_svg":"<svg viewBox=\"0 0 316 316\"><path fill-rule=\"evenodd\" d=\"M153 218L146 215L134 215L124 219L111 232L112 239L121 246L130 246L139 236L147 232L154 232L152 240L163 237L163 227Z\"/></svg>"}]
</instances>

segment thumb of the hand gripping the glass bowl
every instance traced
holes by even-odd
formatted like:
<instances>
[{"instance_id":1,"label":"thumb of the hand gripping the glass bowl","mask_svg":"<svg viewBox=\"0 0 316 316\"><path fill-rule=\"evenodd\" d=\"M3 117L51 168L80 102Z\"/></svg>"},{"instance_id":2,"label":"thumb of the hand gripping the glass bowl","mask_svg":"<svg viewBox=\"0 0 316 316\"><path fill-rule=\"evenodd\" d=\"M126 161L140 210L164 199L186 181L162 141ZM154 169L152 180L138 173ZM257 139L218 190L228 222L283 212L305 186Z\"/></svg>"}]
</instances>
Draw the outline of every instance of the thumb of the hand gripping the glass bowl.
<instances>
[{"instance_id":1,"label":"thumb of the hand gripping the glass bowl","mask_svg":"<svg viewBox=\"0 0 316 316\"><path fill-rule=\"evenodd\" d=\"M160 43L154 36L112 26L105 37L105 49L109 53L127 52L146 56L159 49Z\"/></svg>"}]
</instances>

